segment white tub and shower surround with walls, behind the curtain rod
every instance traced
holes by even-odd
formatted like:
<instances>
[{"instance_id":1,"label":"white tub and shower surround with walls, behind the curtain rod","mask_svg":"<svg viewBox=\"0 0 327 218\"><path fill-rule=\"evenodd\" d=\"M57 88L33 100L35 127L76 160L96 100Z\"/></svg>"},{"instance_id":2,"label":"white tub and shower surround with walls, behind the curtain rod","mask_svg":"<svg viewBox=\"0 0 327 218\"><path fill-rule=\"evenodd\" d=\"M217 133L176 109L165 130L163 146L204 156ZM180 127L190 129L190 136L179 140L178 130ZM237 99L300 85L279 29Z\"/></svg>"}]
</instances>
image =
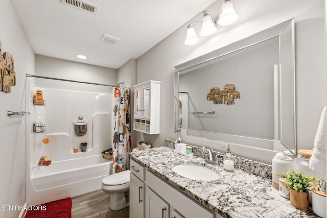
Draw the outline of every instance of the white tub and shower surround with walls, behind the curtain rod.
<instances>
[{"instance_id":1,"label":"white tub and shower surround with walls, behind the curtain rod","mask_svg":"<svg viewBox=\"0 0 327 218\"><path fill-rule=\"evenodd\" d=\"M102 179L110 174L112 166L112 161L102 157L102 152L110 148L112 140L111 88L93 92L85 91L83 86L79 86L80 91L71 90L70 83L62 81L52 81L52 88L49 88L42 86L49 81L38 80L41 79L29 78L26 83L26 107L31 112L26 117L28 205L38 205L98 190ZM40 86L35 86L34 82L39 82ZM88 90L98 88L93 86L94 89L88 87ZM36 90L42 90L45 106L31 103L30 99ZM80 115L88 120L85 135L77 135L74 130L74 120ZM31 131L37 117L44 117L44 133ZM41 139L44 137L48 137L50 142L43 144ZM86 152L81 151L82 142L87 142ZM37 166L44 150L51 157L52 164Z\"/></svg>"}]
</instances>

